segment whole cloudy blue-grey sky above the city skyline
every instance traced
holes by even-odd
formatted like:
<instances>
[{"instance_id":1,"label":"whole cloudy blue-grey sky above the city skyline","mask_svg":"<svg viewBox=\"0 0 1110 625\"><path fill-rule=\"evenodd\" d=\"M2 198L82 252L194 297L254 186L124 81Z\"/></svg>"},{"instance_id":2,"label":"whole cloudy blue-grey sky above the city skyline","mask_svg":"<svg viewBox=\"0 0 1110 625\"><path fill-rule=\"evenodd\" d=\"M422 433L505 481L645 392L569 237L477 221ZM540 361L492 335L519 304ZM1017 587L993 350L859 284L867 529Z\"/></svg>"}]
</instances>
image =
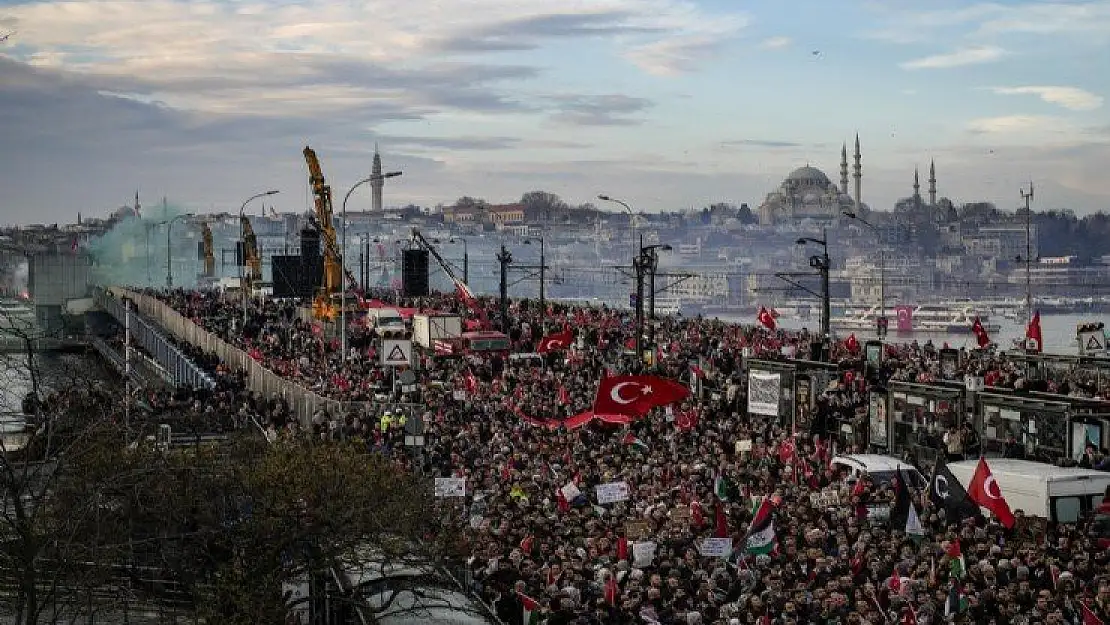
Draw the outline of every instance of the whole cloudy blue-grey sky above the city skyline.
<instances>
[{"instance_id":1,"label":"whole cloudy blue-grey sky above the city skyline","mask_svg":"<svg viewBox=\"0 0 1110 625\"><path fill-rule=\"evenodd\" d=\"M1110 210L1110 0L0 0L9 32L0 223L301 211L305 145L336 211L375 144L387 205L755 208L857 133L872 209L935 160L956 202Z\"/></svg>"}]
</instances>

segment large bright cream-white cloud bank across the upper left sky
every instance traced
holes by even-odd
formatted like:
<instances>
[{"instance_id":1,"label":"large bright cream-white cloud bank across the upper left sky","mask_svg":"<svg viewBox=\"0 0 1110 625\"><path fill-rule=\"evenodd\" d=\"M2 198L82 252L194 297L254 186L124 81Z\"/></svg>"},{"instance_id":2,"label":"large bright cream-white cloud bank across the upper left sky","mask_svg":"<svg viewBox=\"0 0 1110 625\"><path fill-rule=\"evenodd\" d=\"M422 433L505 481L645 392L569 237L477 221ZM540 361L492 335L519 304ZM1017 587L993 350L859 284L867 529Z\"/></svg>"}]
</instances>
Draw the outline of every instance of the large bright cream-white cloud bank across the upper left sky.
<instances>
[{"instance_id":1,"label":"large bright cream-white cloud bank across the upper left sky","mask_svg":"<svg viewBox=\"0 0 1110 625\"><path fill-rule=\"evenodd\" d=\"M173 105L272 114L286 105L311 109L327 95L336 97L330 108L367 98L437 104L422 93L433 82L422 73L450 84L451 72L436 68L452 60L464 75L478 63L475 54L488 70L513 61L498 52L558 39L616 47L652 73L689 71L746 24L741 17L708 16L690 0L59 0L9 6L4 17L28 51L21 60ZM474 90L537 71L527 69L487 77Z\"/></svg>"}]
</instances>

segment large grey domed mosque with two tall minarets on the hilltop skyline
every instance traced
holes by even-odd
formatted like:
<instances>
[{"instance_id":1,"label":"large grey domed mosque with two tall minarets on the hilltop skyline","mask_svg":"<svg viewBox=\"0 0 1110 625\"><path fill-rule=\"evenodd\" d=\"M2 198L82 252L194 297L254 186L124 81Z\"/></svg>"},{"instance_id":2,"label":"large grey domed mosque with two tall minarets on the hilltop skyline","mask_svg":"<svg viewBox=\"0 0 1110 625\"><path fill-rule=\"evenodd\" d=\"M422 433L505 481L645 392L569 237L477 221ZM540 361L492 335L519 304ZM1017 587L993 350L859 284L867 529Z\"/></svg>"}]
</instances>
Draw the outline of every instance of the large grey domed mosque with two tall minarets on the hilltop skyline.
<instances>
[{"instance_id":1,"label":"large grey domed mosque with two tall minarets on the hilltop skyline","mask_svg":"<svg viewBox=\"0 0 1110 625\"><path fill-rule=\"evenodd\" d=\"M808 164L790 172L783 184L767 194L759 205L759 223L775 225L799 220L836 221L844 211L865 212L860 191L864 168L860 164L859 135L856 135L856 159L852 165L855 196L848 193L848 144L840 149L840 185L825 172Z\"/></svg>"}]
</instances>

